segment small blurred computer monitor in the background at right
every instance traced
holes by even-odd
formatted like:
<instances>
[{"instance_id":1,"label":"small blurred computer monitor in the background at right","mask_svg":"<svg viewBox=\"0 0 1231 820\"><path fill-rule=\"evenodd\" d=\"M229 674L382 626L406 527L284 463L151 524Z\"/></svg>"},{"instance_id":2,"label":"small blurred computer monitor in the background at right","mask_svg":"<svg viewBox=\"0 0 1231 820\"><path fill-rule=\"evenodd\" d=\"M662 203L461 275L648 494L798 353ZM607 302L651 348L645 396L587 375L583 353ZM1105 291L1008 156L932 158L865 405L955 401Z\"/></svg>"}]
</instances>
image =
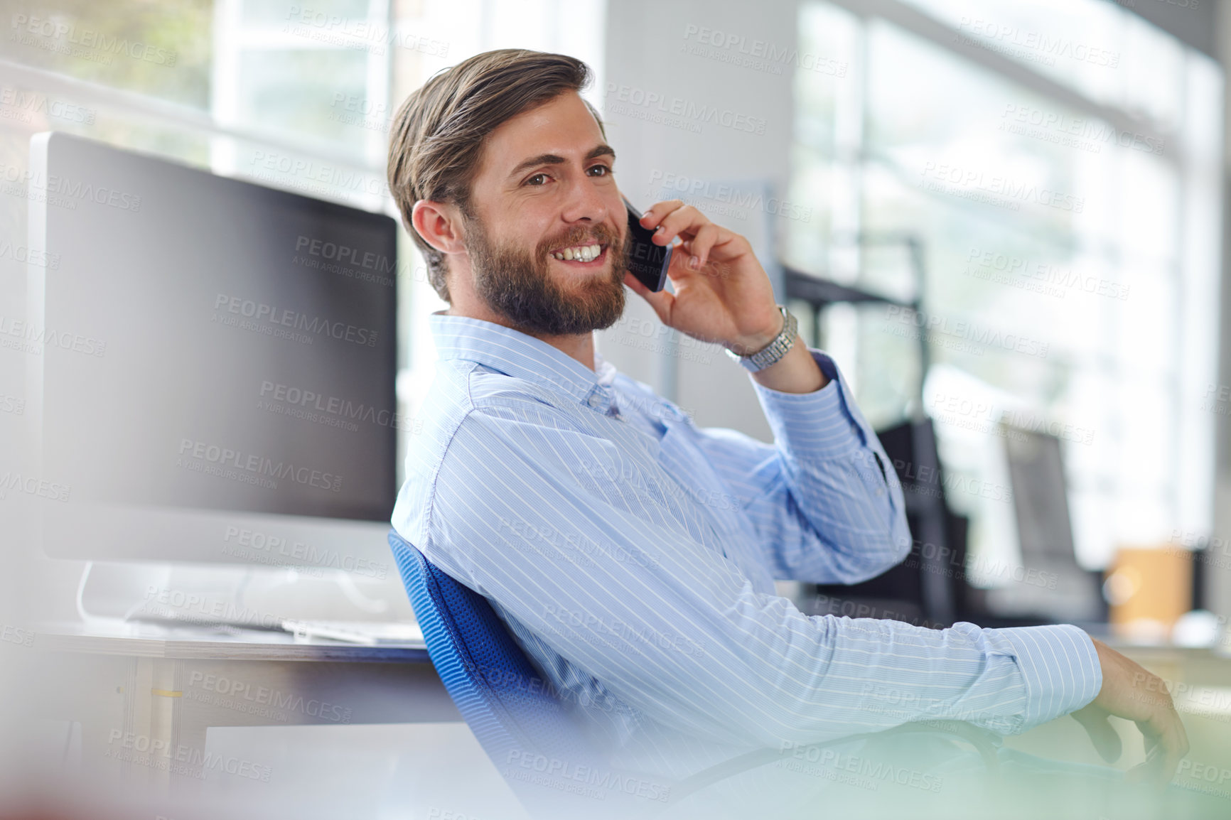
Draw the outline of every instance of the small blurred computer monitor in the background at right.
<instances>
[{"instance_id":1,"label":"small blurred computer monitor in the background at right","mask_svg":"<svg viewBox=\"0 0 1231 820\"><path fill-rule=\"evenodd\" d=\"M1105 622L1098 574L1082 569L1073 549L1060 440L1012 425L1002 425L1001 432L1022 548L1022 579L988 590L988 608L1000 616L1040 621Z\"/></svg>"}]
</instances>

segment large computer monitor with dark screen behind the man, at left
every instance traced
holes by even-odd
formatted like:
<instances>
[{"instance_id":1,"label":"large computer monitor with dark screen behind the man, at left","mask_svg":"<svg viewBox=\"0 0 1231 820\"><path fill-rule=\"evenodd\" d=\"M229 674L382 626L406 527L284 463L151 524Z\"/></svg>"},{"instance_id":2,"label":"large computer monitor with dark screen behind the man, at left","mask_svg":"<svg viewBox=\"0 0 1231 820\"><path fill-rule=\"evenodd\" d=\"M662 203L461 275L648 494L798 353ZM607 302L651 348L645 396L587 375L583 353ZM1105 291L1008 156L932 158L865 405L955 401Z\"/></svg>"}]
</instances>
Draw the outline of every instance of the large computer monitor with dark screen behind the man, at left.
<instances>
[{"instance_id":1,"label":"large computer monitor with dark screen behind the man, at left","mask_svg":"<svg viewBox=\"0 0 1231 820\"><path fill-rule=\"evenodd\" d=\"M44 552L383 576L395 220L62 133L31 188Z\"/></svg>"}]
</instances>

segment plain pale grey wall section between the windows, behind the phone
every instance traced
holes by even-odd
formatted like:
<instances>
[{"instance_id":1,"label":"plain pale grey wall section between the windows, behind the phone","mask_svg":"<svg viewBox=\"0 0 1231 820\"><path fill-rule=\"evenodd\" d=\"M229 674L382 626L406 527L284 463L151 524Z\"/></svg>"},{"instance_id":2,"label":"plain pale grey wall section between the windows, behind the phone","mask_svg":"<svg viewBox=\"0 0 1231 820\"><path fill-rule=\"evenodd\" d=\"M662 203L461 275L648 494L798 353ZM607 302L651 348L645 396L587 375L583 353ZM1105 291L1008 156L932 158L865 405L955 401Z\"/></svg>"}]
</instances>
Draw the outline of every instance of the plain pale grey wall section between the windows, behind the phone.
<instances>
[{"instance_id":1,"label":"plain pale grey wall section between the windows, behind the phone","mask_svg":"<svg viewBox=\"0 0 1231 820\"><path fill-rule=\"evenodd\" d=\"M780 74L720 62L689 53L689 47L726 58L740 55L740 46L713 48L699 39L705 31L724 37L742 36L742 48L753 49L753 41L774 48L795 47L796 4L794 0L751 4L740 0L700 0L662 2L619 0L608 5L606 86L597 90L603 101L608 142L616 148L616 176L620 190L634 204L645 208L657 201L667 175L688 180L763 179L785 187L789 170L792 133L792 82L794 71L778 64ZM713 36L705 34L713 42ZM757 48L764 48L757 47ZM643 96L644 95L644 96ZM650 95L662 102L646 103ZM623 98L622 98L623 97ZM635 101L635 102L634 102ZM638 105L640 103L640 105ZM708 112L716 108L718 116ZM671 116L699 124L648 121L646 117ZM635 113L629 113L635 112ZM729 112L729 113L728 113ZM691 115L691 116L689 116ZM739 126L725 127L724 117L742 117ZM761 131L763 121L763 133ZM751 123L751 124L748 124ZM751 128L752 131L744 131ZM712 186L712 193L718 188ZM686 198L686 197L681 197ZM710 201L713 207L713 201ZM763 233L764 211L731 208L747 214L719 214L721 206L708 212L713 222L750 239ZM773 206L769 206L773 207ZM654 355L638 348L636 335L644 325L659 320L645 302L629 291L630 303L624 320L599 334L599 350L620 371L646 382L692 411L699 426L734 427L763 441L772 441L769 426L756 400L752 383L735 362L716 346L681 346L678 389L671 395L670 355ZM662 342L654 335L645 342ZM698 361L699 360L699 361Z\"/></svg>"}]
</instances>

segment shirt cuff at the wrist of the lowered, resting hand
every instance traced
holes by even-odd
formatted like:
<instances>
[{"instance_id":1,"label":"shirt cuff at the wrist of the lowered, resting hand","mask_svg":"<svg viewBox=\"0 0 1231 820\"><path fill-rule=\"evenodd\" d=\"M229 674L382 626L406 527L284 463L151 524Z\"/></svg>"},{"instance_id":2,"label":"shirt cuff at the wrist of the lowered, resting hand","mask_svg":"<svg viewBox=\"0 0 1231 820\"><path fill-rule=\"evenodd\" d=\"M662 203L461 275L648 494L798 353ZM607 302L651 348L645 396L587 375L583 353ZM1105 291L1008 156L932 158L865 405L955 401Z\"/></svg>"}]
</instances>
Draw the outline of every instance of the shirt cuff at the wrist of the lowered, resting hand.
<instances>
[{"instance_id":1,"label":"shirt cuff at the wrist of the lowered, resting hand","mask_svg":"<svg viewBox=\"0 0 1231 820\"><path fill-rule=\"evenodd\" d=\"M1012 655L1025 683L1022 731L1076 712L1103 688L1094 643L1070 624L984 629L996 654Z\"/></svg>"}]
</instances>

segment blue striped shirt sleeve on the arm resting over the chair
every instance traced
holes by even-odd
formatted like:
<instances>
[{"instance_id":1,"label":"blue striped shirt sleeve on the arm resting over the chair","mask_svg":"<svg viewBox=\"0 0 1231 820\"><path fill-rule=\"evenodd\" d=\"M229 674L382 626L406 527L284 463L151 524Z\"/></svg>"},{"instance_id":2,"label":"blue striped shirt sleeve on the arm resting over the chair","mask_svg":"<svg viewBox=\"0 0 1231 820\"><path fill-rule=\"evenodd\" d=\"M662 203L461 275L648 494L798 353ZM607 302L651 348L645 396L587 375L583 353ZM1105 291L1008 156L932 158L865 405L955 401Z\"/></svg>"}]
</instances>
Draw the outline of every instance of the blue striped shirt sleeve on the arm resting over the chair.
<instances>
[{"instance_id":1,"label":"blue striped shirt sleeve on the arm resting over the chair","mask_svg":"<svg viewBox=\"0 0 1231 820\"><path fill-rule=\"evenodd\" d=\"M670 480L652 454L542 403L471 410L431 485L421 549L613 694L719 742L929 718L1012 734L1098 691L1073 627L933 630L806 616L757 592L699 515L672 511Z\"/></svg>"}]
</instances>

